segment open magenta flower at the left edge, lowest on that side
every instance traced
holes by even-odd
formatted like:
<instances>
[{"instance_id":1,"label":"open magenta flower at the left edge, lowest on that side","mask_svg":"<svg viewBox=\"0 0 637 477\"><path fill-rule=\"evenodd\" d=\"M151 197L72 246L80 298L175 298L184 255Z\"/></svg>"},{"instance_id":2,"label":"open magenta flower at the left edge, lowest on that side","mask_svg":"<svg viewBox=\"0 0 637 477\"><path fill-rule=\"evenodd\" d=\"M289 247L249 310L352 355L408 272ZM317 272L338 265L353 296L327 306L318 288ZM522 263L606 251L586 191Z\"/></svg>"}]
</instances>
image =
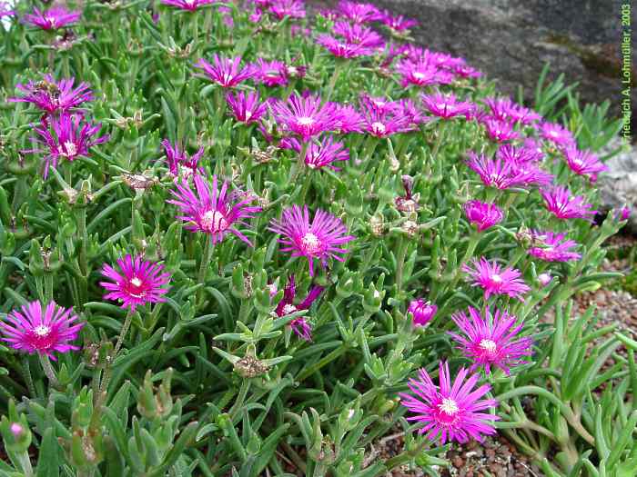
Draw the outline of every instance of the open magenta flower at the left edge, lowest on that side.
<instances>
[{"instance_id":1,"label":"open magenta flower at the left edge, lowest on that side","mask_svg":"<svg viewBox=\"0 0 637 477\"><path fill-rule=\"evenodd\" d=\"M84 323L71 308L65 309L55 302L46 305L31 302L23 305L21 311L14 310L0 321L2 340L15 350L24 353L45 354L56 360L54 352L67 353L79 350L70 344L76 340Z\"/></svg>"}]
</instances>

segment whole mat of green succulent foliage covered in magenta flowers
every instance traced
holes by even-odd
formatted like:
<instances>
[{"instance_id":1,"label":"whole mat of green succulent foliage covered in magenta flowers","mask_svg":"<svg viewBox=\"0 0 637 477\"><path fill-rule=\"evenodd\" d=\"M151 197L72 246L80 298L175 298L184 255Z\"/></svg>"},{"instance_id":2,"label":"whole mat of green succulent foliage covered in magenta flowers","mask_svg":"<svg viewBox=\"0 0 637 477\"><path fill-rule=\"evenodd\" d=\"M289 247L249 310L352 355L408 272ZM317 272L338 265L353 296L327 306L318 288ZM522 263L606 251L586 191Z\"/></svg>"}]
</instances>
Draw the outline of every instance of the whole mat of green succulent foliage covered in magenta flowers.
<instances>
[{"instance_id":1,"label":"whole mat of green succulent foliage covered in magenta flowers","mask_svg":"<svg viewBox=\"0 0 637 477\"><path fill-rule=\"evenodd\" d=\"M617 278L608 104L373 5L0 15L0 475L435 475L498 433L637 472L637 343L572 306Z\"/></svg>"}]
</instances>

